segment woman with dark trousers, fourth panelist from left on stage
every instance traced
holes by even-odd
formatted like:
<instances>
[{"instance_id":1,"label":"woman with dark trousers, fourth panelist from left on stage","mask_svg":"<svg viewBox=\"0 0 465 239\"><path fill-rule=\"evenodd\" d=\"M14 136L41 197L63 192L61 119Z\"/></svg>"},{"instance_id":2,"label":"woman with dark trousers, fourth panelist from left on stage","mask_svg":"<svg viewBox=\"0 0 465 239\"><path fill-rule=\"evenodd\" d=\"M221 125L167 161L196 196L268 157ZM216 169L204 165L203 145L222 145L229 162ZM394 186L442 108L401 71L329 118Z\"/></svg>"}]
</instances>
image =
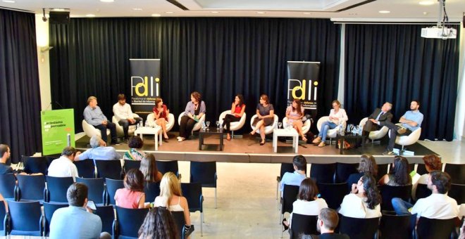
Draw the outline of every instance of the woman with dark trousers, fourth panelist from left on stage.
<instances>
[{"instance_id":1,"label":"woman with dark trousers, fourth panelist from left on stage","mask_svg":"<svg viewBox=\"0 0 465 239\"><path fill-rule=\"evenodd\" d=\"M202 101L200 93L197 91L192 92L190 101L186 105L185 115L181 117L181 123L179 124L179 142L189 138L194 125L205 115L205 111L205 103Z\"/></svg>"}]
</instances>

